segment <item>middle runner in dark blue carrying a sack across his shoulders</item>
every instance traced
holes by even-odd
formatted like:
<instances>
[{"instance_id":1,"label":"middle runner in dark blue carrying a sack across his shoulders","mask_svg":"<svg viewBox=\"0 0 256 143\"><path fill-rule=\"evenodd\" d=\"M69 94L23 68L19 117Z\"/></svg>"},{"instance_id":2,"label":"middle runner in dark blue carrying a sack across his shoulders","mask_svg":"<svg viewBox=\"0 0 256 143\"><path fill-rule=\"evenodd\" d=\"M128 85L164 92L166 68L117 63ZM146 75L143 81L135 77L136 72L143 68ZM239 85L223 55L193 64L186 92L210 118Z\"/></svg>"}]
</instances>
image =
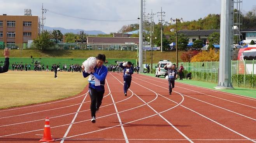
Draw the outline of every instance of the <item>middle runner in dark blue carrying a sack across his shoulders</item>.
<instances>
[{"instance_id":1,"label":"middle runner in dark blue carrying a sack across his shoulders","mask_svg":"<svg viewBox=\"0 0 256 143\"><path fill-rule=\"evenodd\" d=\"M132 82L132 74L133 74L133 67L132 67L132 62L127 62L127 66L123 66L123 62L120 62L119 67L121 67L124 70L124 96L127 96L127 90L131 86Z\"/></svg>"}]
</instances>

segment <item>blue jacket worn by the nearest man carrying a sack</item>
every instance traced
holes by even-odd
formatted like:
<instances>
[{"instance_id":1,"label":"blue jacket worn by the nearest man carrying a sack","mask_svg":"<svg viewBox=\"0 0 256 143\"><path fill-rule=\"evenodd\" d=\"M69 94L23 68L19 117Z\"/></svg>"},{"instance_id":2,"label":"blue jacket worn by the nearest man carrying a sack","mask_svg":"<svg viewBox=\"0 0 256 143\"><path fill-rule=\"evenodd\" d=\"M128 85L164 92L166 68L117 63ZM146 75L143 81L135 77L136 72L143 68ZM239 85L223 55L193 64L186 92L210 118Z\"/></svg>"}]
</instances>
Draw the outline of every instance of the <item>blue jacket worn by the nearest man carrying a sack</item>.
<instances>
[{"instance_id":1,"label":"blue jacket worn by the nearest man carrying a sack","mask_svg":"<svg viewBox=\"0 0 256 143\"><path fill-rule=\"evenodd\" d=\"M105 79L107 76L107 67L105 67L105 65L102 65L102 67L94 68L94 74L92 74L95 78L97 78L98 80L100 80L100 86L95 86L95 84L93 84L93 82L89 82L89 88L93 88L97 91L102 91L105 90L104 85L105 85ZM82 72L84 78L88 77L90 74L88 74L87 72Z\"/></svg>"}]
</instances>

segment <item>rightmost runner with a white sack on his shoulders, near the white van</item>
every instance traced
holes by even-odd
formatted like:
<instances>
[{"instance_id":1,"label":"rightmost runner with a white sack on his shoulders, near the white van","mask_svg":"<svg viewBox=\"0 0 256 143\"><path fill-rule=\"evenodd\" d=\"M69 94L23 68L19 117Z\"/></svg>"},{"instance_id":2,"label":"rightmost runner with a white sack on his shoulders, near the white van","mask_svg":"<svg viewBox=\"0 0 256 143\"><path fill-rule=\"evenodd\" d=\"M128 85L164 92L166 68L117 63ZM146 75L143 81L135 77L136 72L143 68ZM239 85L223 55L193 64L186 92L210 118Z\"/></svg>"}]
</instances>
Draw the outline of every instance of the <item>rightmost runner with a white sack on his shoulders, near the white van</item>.
<instances>
[{"instance_id":1,"label":"rightmost runner with a white sack on his shoulders, near the white van","mask_svg":"<svg viewBox=\"0 0 256 143\"><path fill-rule=\"evenodd\" d=\"M167 68L167 65L169 64L166 64L163 68L167 70L167 73L168 73L169 95L171 95L172 88L174 88L174 82L175 82L175 79L178 78L178 74L177 74L177 69L175 68L175 65L172 65L170 69Z\"/></svg>"}]
</instances>

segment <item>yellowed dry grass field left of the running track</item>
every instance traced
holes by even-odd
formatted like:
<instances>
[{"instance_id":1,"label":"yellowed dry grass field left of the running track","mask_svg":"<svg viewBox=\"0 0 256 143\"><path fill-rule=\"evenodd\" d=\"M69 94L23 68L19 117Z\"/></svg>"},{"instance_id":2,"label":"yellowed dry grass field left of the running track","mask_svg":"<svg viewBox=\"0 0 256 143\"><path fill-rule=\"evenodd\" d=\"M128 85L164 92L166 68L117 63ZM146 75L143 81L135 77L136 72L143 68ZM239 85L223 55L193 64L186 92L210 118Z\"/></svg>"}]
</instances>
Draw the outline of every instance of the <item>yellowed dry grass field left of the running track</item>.
<instances>
[{"instance_id":1,"label":"yellowed dry grass field left of the running track","mask_svg":"<svg viewBox=\"0 0 256 143\"><path fill-rule=\"evenodd\" d=\"M8 71L0 75L0 109L58 100L80 93L88 84L82 73Z\"/></svg>"}]
</instances>

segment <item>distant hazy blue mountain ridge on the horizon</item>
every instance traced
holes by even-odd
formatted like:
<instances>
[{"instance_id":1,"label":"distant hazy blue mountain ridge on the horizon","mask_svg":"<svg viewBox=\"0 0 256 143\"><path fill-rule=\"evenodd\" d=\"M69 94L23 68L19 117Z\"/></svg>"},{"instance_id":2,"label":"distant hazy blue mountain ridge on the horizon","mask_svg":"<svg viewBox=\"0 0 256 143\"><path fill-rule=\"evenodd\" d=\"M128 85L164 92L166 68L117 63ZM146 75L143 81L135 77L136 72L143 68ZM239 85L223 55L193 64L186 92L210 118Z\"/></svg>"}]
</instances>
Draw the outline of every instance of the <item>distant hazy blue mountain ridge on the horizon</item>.
<instances>
[{"instance_id":1,"label":"distant hazy blue mountain ridge on the horizon","mask_svg":"<svg viewBox=\"0 0 256 143\"><path fill-rule=\"evenodd\" d=\"M65 28L60 28L60 27L44 26L44 30L53 31L53 29L60 30L62 34L70 33L70 32L74 33L74 34L77 34L80 31L84 31L86 34L89 34L89 35L106 34L106 33L102 32L102 31L98 31L98 30L86 31L86 30L83 30L83 29L65 29Z\"/></svg>"}]
</instances>

